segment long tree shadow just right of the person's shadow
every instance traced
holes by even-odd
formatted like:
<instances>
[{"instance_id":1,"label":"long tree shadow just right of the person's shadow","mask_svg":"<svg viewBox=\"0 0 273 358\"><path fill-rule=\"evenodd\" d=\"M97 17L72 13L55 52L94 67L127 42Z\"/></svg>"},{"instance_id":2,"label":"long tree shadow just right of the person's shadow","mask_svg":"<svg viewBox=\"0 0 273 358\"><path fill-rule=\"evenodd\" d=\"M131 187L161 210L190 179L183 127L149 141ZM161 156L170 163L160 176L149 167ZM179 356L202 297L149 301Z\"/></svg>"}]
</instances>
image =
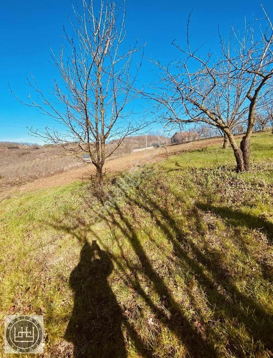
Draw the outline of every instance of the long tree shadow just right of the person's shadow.
<instances>
[{"instance_id":1,"label":"long tree shadow just right of the person's shadow","mask_svg":"<svg viewBox=\"0 0 273 358\"><path fill-rule=\"evenodd\" d=\"M101 203L103 204L102 199ZM162 280L162 278L153 270L151 262L138 238L137 232L133 228L132 223L128 220L126 214L117 204L115 204L114 209L118 214L119 219L117 219L114 212L110 212L108 219L106 218L105 222L108 224L109 228L113 228L114 226L120 229L123 235L130 242L131 247L141 263L142 271L145 272L147 279L152 282L153 287L160 297L166 297L166 301L168 302L167 307L165 306L165 308L162 308L159 305L155 305L151 300L151 297L149 297L142 289L140 282L137 279L130 278L130 284L145 300L146 304L150 307L156 318L163 325L167 326L167 328L176 335L181 343L186 346L190 357L198 357L200 354L206 357L217 357L217 352L214 349L213 343L205 341L199 332L196 331L193 324L189 322L186 315L181 310L181 307L172 296L164 280ZM124 223L125 227L121 223ZM118 243L118 238L116 236L114 239ZM130 265L127 265L127 267L132 270Z\"/></svg>"}]
</instances>

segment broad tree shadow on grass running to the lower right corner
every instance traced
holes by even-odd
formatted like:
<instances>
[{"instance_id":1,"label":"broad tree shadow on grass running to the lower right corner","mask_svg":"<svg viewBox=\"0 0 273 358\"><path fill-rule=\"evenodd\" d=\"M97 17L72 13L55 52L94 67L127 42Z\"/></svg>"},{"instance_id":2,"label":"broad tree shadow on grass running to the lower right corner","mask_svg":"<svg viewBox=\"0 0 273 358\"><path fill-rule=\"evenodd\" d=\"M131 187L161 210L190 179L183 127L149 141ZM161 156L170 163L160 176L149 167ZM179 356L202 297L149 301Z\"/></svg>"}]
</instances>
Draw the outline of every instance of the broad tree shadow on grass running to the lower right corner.
<instances>
[{"instance_id":1,"label":"broad tree shadow on grass running to the lower right corner","mask_svg":"<svg viewBox=\"0 0 273 358\"><path fill-rule=\"evenodd\" d=\"M273 340L268 331L273 330L273 319L254 298L248 297L234 285L229 275L222 265L221 258L218 253L210 251L200 251L200 249L189 240L179 228L175 217L172 215L170 208L162 208L151 197L147 197L146 193L138 190L138 199L127 195L130 202L134 202L140 208L150 213L155 220L157 226L165 232L168 239L173 243L175 255L182 260L183 265L187 266L189 270L198 277L199 285L203 287L206 292L206 297L211 306L217 307L218 312L223 312L226 318L233 320L234 318L241 320L248 329L248 334L253 337L253 341L259 340L268 349L272 348ZM162 198L163 199L163 198ZM179 201L179 198L177 198ZM164 202L164 200L162 200ZM158 215L160 213L160 216ZM196 221L200 221L198 211L194 208L188 213L189 220L192 217ZM175 234L175 237L174 237ZM181 246L182 244L182 246ZM183 246L190 247L195 258L192 258L183 250ZM210 271L213 280L206 275L204 267ZM229 297L218 292L217 287L221 285L224 287ZM194 305L195 298L189 294ZM215 317L222 319L222 316ZM213 328L211 328L211 335L214 336ZM216 337L215 337L216 338ZM244 357L242 347L240 347L240 338L229 335L228 349L235 354L236 357Z\"/></svg>"}]
</instances>

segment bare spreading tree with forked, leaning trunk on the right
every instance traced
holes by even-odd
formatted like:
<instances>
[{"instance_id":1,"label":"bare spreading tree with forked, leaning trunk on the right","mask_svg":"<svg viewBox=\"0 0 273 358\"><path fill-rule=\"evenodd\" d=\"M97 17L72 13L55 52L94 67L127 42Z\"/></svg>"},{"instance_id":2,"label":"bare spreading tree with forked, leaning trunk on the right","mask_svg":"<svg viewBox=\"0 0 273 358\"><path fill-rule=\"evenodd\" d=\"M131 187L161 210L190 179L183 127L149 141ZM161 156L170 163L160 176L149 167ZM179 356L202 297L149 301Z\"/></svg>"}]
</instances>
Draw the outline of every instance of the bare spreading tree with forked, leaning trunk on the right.
<instances>
[{"instance_id":1,"label":"bare spreading tree with forked, leaning trunk on the right","mask_svg":"<svg viewBox=\"0 0 273 358\"><path fill-rule=\"evenodd\" d=\"M159 120L168 125L203 122L220 130L233 148L238 171L249 169L255 110L273 76L273 28L264 14L264 33L254 34L255 22L245 24L242 36L233 30L227 42L220 37L218 57L213 53L199 55L200 47L191 49L189 16L187 47L172 42L183 57L166 66L154 62L160 69L160 81L151 86L150 93L143 93L156 102ZM239 146L233 128L245 120L247 131Z\"/></svg>"}]
</instances>

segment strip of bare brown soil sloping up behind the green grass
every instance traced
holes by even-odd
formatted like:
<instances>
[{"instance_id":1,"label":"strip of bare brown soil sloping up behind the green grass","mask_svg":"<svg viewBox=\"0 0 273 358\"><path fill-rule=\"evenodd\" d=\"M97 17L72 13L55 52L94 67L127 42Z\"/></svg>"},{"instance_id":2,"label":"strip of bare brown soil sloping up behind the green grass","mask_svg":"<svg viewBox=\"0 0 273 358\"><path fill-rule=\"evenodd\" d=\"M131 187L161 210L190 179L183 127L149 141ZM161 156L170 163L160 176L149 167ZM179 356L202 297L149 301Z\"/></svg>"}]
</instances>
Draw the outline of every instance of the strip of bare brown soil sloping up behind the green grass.
<instances>
[{"instance_id":1,"label":"strip of bare brown soil sloping up behind the green grass","mask_svg":"<svg viewBox=\"0 0 273 358\"><path fill-rule=\"evenodd\" d=\"M268 136L269 134L264 134L264 135ZM239 140L239 136L238 136L238 140ZM195 150L195 149L205 150L206 147L213 146L213 145L218 145L220 150L222 141L223 140L221 138L204 139L204 140L192 141L187 144L167 146L166 149L165 147L161 147L152 150L126 154L119 158L108 160L104 165L104 170L107 174L117 173L130 169L136 165L155 163L157 161L160 161L161 159L166 159L169 155L174 155L174 154L183 154L184 157L187 158L188 151ZM222 156L222 154L220 153L221 152L219 151L219 155ZM16 153L13 155L16 155ZM227 162L233 160L231 148L229 148L227 152L223 153L223 155L224 155L223 158L226 158ZM20 178L17 182L16 179L15 180L12 179L11 184L14 188L10 188L10 186L7 186L6 180L3 180L2 186L0 185L0 199L4 199L8 197L11 192L14 192L15 189L19 189L20 192L25 192L28 190L50 188L56 185L66 185L69 183L73 183L75 180L90 179L92 175L96 173L92 164L82 165L80 161L75 161L74 158L71 159L67 159L67 157L59 158L59 156L56 155L55 158L51 156L51 159L49 159L48 162L51 163L52 159L53 159L53 163L55 163L56 165L56 169L55 169L56 174L54 174L54 170L52 173L50 171L45 170L44 173L41 174L40 172L38 172L36 175L35 165L39 164L41 166L43 165L43 162L40 163L38 161L38 162L34 162L34 164L30 162L30 165L32 166L34 165L33 168L31 166L29 167L30 173L32 174L29 176L26 175L25 178ZM62 163L64 167L62 167ZM216 158L215 158L215 163L216 163ZM24 163L21 164L23 165ZM73 166L76 167L76 169L73 169ZM48 166L48 168L50 168L50 166ZM16 166L15 166L15 170L14 168L10 170L11 175L13 175L14 171L16 171ZM1 174L1 170L0 170L0 174ZM41 176L41 178L39 178L39 176ZM1 179L0 179L0 183L1 183Z\"/></svg>"}]
</instances>

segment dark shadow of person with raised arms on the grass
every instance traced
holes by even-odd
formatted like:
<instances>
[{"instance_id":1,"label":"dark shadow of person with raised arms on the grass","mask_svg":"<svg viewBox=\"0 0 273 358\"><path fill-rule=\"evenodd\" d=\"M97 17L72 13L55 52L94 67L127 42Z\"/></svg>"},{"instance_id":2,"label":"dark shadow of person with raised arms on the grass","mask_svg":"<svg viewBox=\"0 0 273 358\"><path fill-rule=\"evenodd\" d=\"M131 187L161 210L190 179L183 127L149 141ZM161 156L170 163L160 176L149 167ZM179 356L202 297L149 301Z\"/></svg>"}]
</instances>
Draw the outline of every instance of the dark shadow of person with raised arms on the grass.
<instances>
[{"instance_id":1,"label":"dark shadow of person with raised arms on the grass","mask_svg":"<svg viewBox=\"0 0 273 358\"><path fill-rule=\"evenodd\" d=\"M64 338L74 344L74 357L126 357L122 313L107 282L113 264L96 241L85 241L69 285L74 307Z\"/></svg>"}]
</instances>

